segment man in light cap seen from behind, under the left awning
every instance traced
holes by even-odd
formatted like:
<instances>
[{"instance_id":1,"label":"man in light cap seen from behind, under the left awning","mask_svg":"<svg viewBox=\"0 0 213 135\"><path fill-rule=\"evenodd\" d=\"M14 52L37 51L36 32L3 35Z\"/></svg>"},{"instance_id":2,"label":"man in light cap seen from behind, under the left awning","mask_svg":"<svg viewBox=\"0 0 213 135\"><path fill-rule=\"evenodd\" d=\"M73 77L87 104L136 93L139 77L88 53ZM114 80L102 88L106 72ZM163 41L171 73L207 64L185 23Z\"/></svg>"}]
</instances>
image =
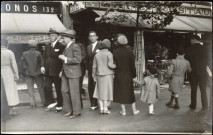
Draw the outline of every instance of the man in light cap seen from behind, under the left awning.
<instances>
[{"instance_id":1,"label":"man in light cap seen from behind, under the left awning","mask_svg":"<svg viewBox=\"0 0 213 135\"><path fill-rule=\"evenodd\" d=\"M30 96L30 104L32 108L36 107L36 101L34 96L34 82L36 82L38 91L41 97L42 104L45 103L43 82L44 78L41 73L42 54L36 50L38 42L36 40L30 40L28 42L30 50L23 53L21 58L22 68L24 70L25 81Z\"/></svg>"}]
</instances>

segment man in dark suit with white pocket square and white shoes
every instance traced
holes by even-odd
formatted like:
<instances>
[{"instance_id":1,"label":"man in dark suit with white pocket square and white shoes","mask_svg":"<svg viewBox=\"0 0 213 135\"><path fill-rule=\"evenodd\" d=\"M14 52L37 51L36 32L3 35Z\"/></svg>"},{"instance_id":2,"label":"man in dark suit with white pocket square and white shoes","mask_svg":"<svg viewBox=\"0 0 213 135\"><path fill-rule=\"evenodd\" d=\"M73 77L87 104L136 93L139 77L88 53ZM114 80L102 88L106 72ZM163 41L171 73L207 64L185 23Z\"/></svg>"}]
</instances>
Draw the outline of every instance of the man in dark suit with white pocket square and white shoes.
<instances>
[{"instance_id":1,"label":"man in dark suit with white pocket square and white shoes","mask_svg":"<svg viewBox=\"0 0 213 135\"><path fill-rule=\"evenodd\" d=\"M62 61L58 58L60 54L64 51L64 46L58 43L60 39L58 37L58 32L54 29L49 30L51 43L46 44L45 51L43 54L43 62L41 67L41 72L45 74L45 97L46 104L50 104L47 109L55 107L56 110L62 110L62 95L61 95L61 78L59 73L62 69ZM52 83L55 85L57 93L57 104L54 103L53 92L52 92Z\"/></svg>"}]
</instances>

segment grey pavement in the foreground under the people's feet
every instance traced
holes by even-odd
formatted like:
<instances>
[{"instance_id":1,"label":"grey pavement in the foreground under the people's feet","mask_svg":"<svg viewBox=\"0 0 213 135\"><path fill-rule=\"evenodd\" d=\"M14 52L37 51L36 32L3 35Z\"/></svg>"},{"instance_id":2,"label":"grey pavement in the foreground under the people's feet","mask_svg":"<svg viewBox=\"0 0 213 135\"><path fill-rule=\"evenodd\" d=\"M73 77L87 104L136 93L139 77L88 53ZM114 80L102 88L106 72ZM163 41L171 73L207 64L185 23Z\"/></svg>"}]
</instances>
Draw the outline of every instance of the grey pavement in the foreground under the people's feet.
<instances>
[{"instance_id":1,"label":"grey pavement in the foreground under the people's feet","mask_svg":"<svg viewBox=\"0 0 213 135\"><path fill-rule=\"evenodd\" d=\"M84 85L87 89L87 85ZM136 106L140 110L133 115L131 105L127 105L127 116L120 115L120 105L111 104L111 114L101 115L99 111L90 111L88 97L83 100L81 117L69 119L64 112L45 111L45 108L29 108L27 105L16 107L18 116L3 122L2 132L7 133L211 133L212 111L202 112L200 92L198 107L192 111L190 104L190 86L185 86L180 94L180 109L165 106L170 99L168 85L161 86L159 101L154 104L156 115L148 115L148 104L139 100L140 90L135 90ZM210 97L210 89L207 91ZM28 102L28 95L22 91L22 103ZM38 93L37 93L38 96ZM36 97L37 97L36 96ZM25 98L25 100L23 100ZM40 101L39 97L37 100Z\"/></svg>"}]
</instances>

